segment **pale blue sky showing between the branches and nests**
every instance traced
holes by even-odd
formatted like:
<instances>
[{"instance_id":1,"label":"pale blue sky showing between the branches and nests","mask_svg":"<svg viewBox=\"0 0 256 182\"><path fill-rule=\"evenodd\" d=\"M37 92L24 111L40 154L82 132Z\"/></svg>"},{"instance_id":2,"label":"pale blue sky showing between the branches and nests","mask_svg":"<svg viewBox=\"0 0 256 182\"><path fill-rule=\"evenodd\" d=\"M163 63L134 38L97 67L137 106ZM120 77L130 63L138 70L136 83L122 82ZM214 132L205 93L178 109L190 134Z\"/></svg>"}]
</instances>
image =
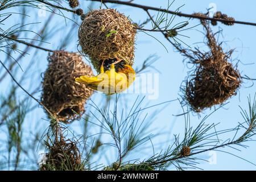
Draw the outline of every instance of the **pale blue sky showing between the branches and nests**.
<instances>
[{"instance_id":1,"label":"pale blue sky showing between the branches and nests","mask_svg":"<svg viewBox=\"0 0 256 182\"><path fill-rule=\"evenodd\" d=\"M134 1L135 3L142 3L142 1ZM146 2L145 5L148 6L155 6L160 7L162 6L167 7L167 0L162 1L144 1ZM196 12L205 12L208 8L210 3L215 3L217 7L217 11L222 11L222 13L228 14L230 16L234 16L236 20L243 20L247 22L256 22L256 16L255 16L255 7L256 2L255 1L175 1L174 5L171 6L171 10L176 10L181 5L184 5L181 7L180 11L183 13L196 13ZM86 7L89 6L88 1L83 1L81 3L81 8L86 9ZM100 6L100 3L95 3L93 8L98 9ZM143 22L147 18L146 13L143 10L132 8L129 6L116 6L112 4L108 4L109 7L117 8L117 10L121 13L125 13L125 15L129 16L134 22ZM151 11L151 14L156 14L154 11ZM46 13L46 16L37 16L38 12L35 11L33 15L28 18L30 22L44 22L46 21L46 17L49 15L49 13ZM67 14L69 17L72 17L72 15ZM43 47L51 48L51 49L57 49L59 48L59 40L63 38L63 35L68 33L68 31L65 31L65 28L69 28L71 22L67 20L67 26L65 26L65 19L61 16L56 16L54 19L56 23L52 24L52 28L63 28L60 33L53 39L51 39L51 44L43 44ZM186 18L179 18L177 17L174 21L175 23L181 22L187 20ZM81 22L78 20L77 22ZM8 22L6 26L13 25L17 22ZM198 20L189 20L188 26L195 26L198 24ZM236 48L236 51L234 52L233 59L234 63L236 63L237 60L240 60L241 62L238 64L238 69L240 69L241 75L248 75L251 77L256 77L256 65L251 64L255 63L254 58L254 50L256 49L254 40L255 40L255 30L256 27L253 26L245 26L241 24L235 24L234 26L225 26L224 24L219 23L218 24L222 29L222 36L220 37L220 40L225 40L224 49L232 49ZM74 31L72 32L71 36L71 42L69 42L66 49L68 51L77 51L77 28L76 26L74 28ZM148 24L147 28L150 28L150 24ZM184 31L183 34L186 36L189 36L189 38L181 38L185 43L187 43L189 46L194 47L194 43L203 42L204 36L201 34L202 28L200 26L196 28L192 28L191 30ZM218 30L218 26L213 28L214 31ZM137 34L137 40L136 40L136 49L135 49L135 64L134 67L139 67L143 63L143 60L145 60L149 55L157 55L159 57L158 61L156 61L153 66L154 68L158 69L160 71L159 73L159 97L156 100L148 100L148 98L145 98L144 105L155 105L159 104L161 102L175 100L176 98L179 98L180 94L180 84L184 80L184 78L187 76L187 72L189 69L187 68L186 64L183 63L183 57L174 51L174 48L166 41L166 39L163 37L162 34L158 33L152 33L156 39L158 39L160 42L162 42L166 48L168 49L168 52L166 49L155 39L151 38L150 36L144 34L143 32L140 32ZM28 34L29 36L29 34ZM185 45L184 45L185 46ZM205 48L205 47L202 47ZM44 72L47 66L47 53L46 52L40 52L40 56L38 57L32 57L32 53L27 56L28 59L34 59L35 60L35 77L32 79L28 79L26 83L24 83L24 86L27 88L30 88L30 85L36 81L40 82L40 73ZM26 59L22 61L22 67L26 68L28 64L28 61L26 63ZM150 73L158 73L154 69L148 69ZM23 74L20 72L20 76ZM8 78L6 79L5 83L6 85L9 82ZM249 87L252 83L250 81L245 81L242 83L242 86L237 94L237 96L232 97L229 99L229 104L227 104L225 107L219 109L216 113L211 115L207 119L207 123L220 123L217 126L218 130L224 130L224 129L230 129L237 126L238 122L242 122L243 118L240 114L240 107L243 107L244 109L247 109L247 96L249 94L251 96L254 96L255 94L255 85ZM249 88L248 88L249 87ZM1 92L4 93L5 89L2 89ZM142 94L141 94L142 95ZM23 97L24 93L20 92L20 97ZM39 98L40 95L38 95ZM131 104L135 98L138 96L138 94L126 94L124 100L127 102L127 107L129 108L129 104ZM100 102L102 100L102 97L105 97L101 93L94 94L92 97L92 100L97 102ZM168 105L164 105L158 107L158 109L161 109L154 119L154 122L151 126L148 127L148 130L152 131L152 134L157 134L158 131L161 131L164 133L164 135L160 135L159 137L155 138L153 140L153 143L155 144L156 148L155 150L164 150L168 147L168 143L171 144L173 135L174 134L183 134L184 132L184 118L183 117L175 117L174 115L180 114L181 106L178 101L171 102ZM152 113L155 110L155 108L148 109L144 112L146 113ZM204 113L201 114L201 117L199 117L196 114L191 114L191 123L192 125L197 125L201 119L207 114L210 114L212 110L205 110ZM143 118L143 114L140 116L141 119ZM42 127L46 127L47 123L41 118L46 118L46 115L44 115L43 110L41 108L36 109L30 115L28 116L29 121L32 122L26 122L24 127L31 128L31 130L34 130L37 126L42 125ZM80 121L77 121L72 124L72 128L76 130L77 133L79 133L80 130ZM96 132L97 130L93 130L93 132ZM225 140L229 137L233 137L232 134L228 135L222 135L222 138ZM106 139L107 140L107 139ZM164 144L158 145L160 142L165 142ZM166 142L169 141L169 142ZM232 152L232 154L236 154L241 156L242 158L248 159L253 163L256 163L256 145L254 142L246 143L249 148L244 149L240 148L242 151L235 151L232 148L225 148L225 151ZM110 152L111 153L111 152ZM134 158L142 158L144 154L150 154L152 153L152 148L147 148L140 154L135 153L133 154ZM206 152L205 154L200 155L202 158L208 160L209 156L212 155L209 152ZM215 155L215 154L214 154ZM144 156L145 157L145 156ZM235 156L225 154L223 152L216 152L216 164L209 164L207 162L201 162L197 167L206 169L206 170L229 170L229 169L242 169L242 170L251 170L256 169L255 166L253 166L250 163L247 163L241 159L236 158ZM105 163L105 160L98 161L98 163ZM174 168L171 168L174 169Z\"/></svg>"}]
</instances>

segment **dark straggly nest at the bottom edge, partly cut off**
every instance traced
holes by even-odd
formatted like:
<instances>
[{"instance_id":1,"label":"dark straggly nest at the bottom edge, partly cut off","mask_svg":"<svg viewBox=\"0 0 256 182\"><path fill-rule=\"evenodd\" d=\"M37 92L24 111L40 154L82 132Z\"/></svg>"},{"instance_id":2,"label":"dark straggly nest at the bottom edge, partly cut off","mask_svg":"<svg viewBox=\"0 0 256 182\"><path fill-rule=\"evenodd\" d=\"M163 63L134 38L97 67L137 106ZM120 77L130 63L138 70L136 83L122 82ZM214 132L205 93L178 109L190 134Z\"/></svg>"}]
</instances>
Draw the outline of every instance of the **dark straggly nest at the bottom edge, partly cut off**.
<instances>
[{"instance_id":1,"label":"dark straggly nest at the bottom edge, partly cut off","mask_svg":"<svg viewBox=\"0 0 256 182\"><path fill-rule=\"evenodd\" d=\"M52 145L46 143L48 152L40 165L40 171L84 171L77 144L71 140L56 140Z\"/></svg>"}]
</instances>

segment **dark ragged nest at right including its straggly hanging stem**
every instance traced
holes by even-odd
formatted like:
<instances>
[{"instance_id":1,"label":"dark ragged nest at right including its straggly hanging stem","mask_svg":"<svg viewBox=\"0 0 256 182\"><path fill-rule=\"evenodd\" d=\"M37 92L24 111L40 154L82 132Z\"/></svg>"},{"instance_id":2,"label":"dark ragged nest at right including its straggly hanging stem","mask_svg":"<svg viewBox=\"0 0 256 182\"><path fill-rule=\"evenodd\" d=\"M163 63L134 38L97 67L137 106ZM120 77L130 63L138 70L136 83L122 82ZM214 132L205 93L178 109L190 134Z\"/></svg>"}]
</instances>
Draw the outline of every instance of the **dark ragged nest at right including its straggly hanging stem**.
<instances>
[{"instance_id":1,"label":"dark ragged nest at right including its straggly hanging stem","mask_svg":"<svg viewBox=\"0 0 256 182\"><path fill-rule=\"evenodd\" d=\"M209 23L201 20L207 38L208 52L176 47L195 69L189 74L184 86L184 97L191 109L200 112L208 107L223 104L236 95L241 85L241 76L236 67L229 63L233 50L224 52L217 43Z\"/></svg>"}]
</instances>

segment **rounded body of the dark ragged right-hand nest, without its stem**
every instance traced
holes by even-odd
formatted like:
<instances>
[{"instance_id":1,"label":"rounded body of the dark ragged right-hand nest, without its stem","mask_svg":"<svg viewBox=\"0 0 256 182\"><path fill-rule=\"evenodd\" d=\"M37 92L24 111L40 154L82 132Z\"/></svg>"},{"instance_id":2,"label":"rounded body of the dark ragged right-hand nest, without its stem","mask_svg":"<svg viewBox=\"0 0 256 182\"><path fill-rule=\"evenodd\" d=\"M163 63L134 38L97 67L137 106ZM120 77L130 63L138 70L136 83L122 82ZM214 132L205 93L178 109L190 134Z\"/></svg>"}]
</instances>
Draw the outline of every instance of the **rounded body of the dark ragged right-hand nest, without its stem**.
<instances>
[{"instance_id":1,"label":"rounded body of the dark ragged right-hand nest, without its stem","mask_svg":"<svg viewBox=\"0 0 256 182\"><path fill-rule=\"evenodd\" d=\"M205 108L223 104L236 95L241 84L240 74L226 60L204 60L197 66L195 75L187 80L185 97L192 109L200 112Z\"/></svg>"}]
</instances>

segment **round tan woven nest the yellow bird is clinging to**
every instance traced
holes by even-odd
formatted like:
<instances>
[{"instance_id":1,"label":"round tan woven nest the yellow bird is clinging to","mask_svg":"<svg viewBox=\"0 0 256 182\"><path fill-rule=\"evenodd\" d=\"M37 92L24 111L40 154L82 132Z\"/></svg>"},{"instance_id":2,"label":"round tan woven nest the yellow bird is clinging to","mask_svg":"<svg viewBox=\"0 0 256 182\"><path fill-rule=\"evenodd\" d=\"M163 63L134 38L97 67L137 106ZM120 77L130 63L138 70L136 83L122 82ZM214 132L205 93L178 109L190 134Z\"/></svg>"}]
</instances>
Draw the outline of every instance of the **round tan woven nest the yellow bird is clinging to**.
<instances>
[{"instance_id":1,"label":"round tan woven nest the yellow bird is clinging to","mask_svg":"<svg viewBox=\"0 0 256 182\"><path fill-rule=\"evenodd\" d=\"M116 67L133 64L136 28L130 19L114 9L94 10L85 15L79 28L79 44L100 72L116 60Z\"/></svg>"}]
</instances>

